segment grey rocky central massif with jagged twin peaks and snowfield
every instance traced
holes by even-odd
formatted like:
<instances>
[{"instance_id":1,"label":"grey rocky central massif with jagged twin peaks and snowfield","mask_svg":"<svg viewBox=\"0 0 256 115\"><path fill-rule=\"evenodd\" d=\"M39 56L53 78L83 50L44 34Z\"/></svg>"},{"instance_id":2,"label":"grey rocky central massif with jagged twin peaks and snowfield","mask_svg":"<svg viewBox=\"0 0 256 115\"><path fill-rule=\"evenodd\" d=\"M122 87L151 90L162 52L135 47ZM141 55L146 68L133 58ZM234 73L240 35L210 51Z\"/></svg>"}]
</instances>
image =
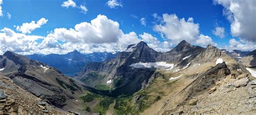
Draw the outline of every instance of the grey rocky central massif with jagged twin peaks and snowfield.
<instances>
[{"instance_id":1,"label":"grey rocky central massif with jagged twin peaks and snowfield","mask_svg":"<svg viewBox=\"0 0 256 115\"><path fill-rule=\"evenodd\" d=\"M214 46L202 48L185 40L166 53L154 51L142 41L137 45L129 45L126 51L120 52L112 60L87 64L77 78L91 87L96 84L111 85L114 90L107 95L131 95L147 86L156 71L154 67L167 66L169 69L175 67L182 70L189 67L191 61L194 64L206 63L221 56L227 55Z\"/></svg>"}]
</instances>

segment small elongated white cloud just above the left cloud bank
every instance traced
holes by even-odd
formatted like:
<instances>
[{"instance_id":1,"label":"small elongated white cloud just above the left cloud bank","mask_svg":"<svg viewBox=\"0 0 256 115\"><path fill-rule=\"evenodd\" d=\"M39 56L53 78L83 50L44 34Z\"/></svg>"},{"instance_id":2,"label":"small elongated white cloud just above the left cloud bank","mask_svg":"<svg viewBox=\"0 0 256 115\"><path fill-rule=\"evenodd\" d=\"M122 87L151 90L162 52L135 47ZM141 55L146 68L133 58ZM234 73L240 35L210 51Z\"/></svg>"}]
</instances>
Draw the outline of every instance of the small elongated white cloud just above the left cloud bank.
<instances>
[{"instance_id":1,"label":"small elongated white cloud just above the left cloud bank","mask_svg":"<svg viewBox=\"0 0 256 115\"><path fill-rule=\"evenodd\" d=\"M23 23L22 26L17 26L16 30L22 33L31 33L32 31L46 24L47 21L48 19L45 18L41 18L37 22L32 20L31 23Z\"/></svg>"}]
</instances>

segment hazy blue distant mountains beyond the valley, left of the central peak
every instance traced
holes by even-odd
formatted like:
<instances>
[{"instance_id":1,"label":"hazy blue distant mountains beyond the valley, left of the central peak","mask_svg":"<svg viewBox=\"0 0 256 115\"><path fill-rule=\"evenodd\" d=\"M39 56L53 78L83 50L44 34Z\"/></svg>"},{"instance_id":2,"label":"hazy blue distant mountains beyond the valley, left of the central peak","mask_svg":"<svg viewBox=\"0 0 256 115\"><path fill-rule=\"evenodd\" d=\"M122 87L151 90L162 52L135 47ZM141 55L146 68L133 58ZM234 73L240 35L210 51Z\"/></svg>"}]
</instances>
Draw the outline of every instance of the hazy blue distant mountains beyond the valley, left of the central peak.
<instances>
[{"instance_id":1,"label":"hazy blue distant mountains beyond the valley, left of the central peak","mask_svg":"<svg viewBox=\"0 0 256 115\"><path fill-rule=\"evenodd\" d=\"M78 73L87 63L110 60L115 55L116 54L106 52L84 55L75 50L68 54L33 54L26 55L26 57L55 67L58 70L62 71L62 73L64 73L65 75L73 76Z\"/></svg>"}]
</instances>

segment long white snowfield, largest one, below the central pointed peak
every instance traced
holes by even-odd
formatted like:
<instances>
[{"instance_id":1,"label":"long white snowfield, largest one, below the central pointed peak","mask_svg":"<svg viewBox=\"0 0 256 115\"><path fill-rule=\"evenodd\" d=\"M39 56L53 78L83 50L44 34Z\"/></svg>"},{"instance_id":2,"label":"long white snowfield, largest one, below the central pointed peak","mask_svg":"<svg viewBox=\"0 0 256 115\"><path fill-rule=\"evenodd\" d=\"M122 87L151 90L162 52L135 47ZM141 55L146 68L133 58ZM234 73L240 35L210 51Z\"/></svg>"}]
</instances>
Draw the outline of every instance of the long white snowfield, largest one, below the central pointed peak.
<instances>
[{"instance_id":1,"label":"long white snowfield, largest one, below the central pointed peak","mask_svg":"<svg viewBox=\"0 0 256 115\"><path fill-rule=\"evenodd\" d=\"M157 69L172 69L174 64L169 64L166 62L139 62L139 63L132 63L130 67L133 68L157 68Z\"/></svg>"}]
</instances>

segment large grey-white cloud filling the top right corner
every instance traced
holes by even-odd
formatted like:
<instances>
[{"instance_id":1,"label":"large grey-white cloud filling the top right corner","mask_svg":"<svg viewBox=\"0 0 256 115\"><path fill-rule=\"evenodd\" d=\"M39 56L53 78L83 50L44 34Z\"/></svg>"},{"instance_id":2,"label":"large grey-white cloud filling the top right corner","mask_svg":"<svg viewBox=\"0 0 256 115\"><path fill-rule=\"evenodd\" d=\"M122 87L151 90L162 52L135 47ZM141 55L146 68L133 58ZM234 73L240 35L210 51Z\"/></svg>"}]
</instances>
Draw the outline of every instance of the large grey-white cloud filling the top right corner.
<instances>
[{"instance_id":1,"label":"large grey-white cloud filling the top right corner","mask_svg":"<svg viewBox=\"0 0 256 115\"><path fill-rule=\"evenodd\" d=\"M231 23L231 34L244 40L256 42L255 0L214 0L224 7L223 15Z\"/></svg>"}]
</instances>

